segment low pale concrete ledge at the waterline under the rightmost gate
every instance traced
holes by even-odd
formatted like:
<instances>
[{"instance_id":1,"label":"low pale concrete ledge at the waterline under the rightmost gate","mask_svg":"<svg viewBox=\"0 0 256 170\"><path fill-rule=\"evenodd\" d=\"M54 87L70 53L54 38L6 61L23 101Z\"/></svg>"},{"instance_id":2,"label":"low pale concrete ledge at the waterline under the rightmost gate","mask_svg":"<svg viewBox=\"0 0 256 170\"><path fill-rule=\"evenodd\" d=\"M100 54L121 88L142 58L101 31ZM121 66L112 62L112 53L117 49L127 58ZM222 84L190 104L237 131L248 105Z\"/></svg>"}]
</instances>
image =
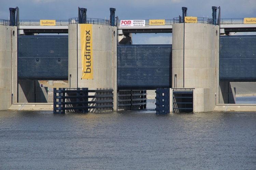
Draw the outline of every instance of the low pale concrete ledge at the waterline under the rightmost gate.
<instances>
[{"instance_id":1,"label":"low pale concrete ledge at the waterline under the rightmost gate","mask_svg":"<svg viewBox=\"0 0 256 170\"><path fill-rule=\"evenodd\" d=\"M214 111L256 112L256 104L218 104Z\"/></svg>"}]
</instances>

